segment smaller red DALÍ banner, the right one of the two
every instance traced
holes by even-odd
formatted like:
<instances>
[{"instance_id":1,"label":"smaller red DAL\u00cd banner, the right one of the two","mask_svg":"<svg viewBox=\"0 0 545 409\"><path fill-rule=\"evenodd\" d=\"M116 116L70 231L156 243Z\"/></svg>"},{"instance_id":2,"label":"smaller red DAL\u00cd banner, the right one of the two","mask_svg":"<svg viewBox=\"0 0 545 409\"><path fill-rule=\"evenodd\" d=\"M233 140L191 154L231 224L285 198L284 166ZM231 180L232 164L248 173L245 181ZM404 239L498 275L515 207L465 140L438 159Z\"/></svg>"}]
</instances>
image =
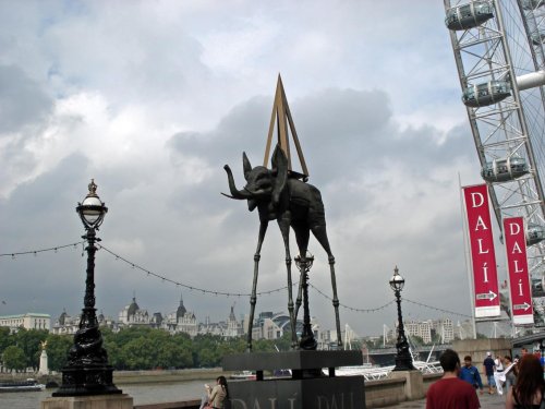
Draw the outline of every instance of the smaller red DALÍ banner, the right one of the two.
<instances>
[{"instance_id":1,"label":"smaller red DAL\u00cd banner, the right one of the two","mask_svg":"<svg viewBox=\"0 0 545 409\"><path fill-rule=\"evenodd\" d=\"M504 237L509 272L512 322L513 324L533 324L534 310L532 308L532 289L528 270L523 218L505 218Z\"/></svg>"}]
</instances>

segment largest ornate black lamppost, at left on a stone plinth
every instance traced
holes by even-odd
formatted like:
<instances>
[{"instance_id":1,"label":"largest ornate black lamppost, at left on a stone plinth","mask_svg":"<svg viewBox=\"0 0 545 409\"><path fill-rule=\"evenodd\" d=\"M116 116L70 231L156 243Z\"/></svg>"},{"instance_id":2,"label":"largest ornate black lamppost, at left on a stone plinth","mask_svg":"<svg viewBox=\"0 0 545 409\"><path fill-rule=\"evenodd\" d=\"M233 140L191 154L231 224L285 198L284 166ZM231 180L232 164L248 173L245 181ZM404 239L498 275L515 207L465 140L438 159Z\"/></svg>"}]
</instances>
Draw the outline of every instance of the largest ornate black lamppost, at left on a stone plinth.
<instances>
[{"instance_id":1,"label":"largest ornate black lamppost, at left on a stone plinth","mask_svg":"<svg viewBox=\"0 0 545 409\"><path fill-rule=\"evenodd\" d=\"M94 179L88 188L89 193L76 207L86 230L82 239L87 241L84 308L74 345L69 351L68 364L62 369L62 385L52 394L53 397L121 394L112 382L113 368L108 364L108 356L102 348L95 309L95 242L100 241L95 230L102 224L108 207L98 197Z\"/></svg>"}]
</instances>

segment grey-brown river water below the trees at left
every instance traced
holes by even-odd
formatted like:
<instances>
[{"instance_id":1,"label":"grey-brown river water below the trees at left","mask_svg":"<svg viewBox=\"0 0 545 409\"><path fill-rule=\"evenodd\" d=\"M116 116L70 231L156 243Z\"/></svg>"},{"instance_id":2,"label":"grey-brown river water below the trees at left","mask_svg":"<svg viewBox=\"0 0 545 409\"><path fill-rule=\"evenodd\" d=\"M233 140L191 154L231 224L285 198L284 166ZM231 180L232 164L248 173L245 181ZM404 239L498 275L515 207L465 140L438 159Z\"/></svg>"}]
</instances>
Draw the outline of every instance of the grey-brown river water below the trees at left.
<instances>
[{"instance_id":1,"label":"grey-brown river water below the trees at left","mask_svg":"<svg viewBox=\"0 0 545 409\"><path fill-rule=\"evenodd\" d=\"M208 383L211 383L213 380ZM123 385L116 386L130 395L134 405L158 404L199 399L204 393L205 381L186 381L164 384ZM16 392L0 394L0 409L39 409L41 400L49 398L55 389L41 392Z\"/></svg>"}]
</instances>

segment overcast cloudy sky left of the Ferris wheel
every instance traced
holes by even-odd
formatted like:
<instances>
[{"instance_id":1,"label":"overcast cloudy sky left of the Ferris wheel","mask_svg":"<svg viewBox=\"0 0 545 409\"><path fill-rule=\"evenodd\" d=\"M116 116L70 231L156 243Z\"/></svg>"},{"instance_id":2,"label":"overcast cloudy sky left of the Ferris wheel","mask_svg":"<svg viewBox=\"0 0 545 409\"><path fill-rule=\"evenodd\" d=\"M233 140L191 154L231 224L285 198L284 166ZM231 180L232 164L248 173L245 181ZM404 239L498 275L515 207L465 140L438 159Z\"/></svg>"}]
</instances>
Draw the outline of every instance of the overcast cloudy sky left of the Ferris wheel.
<instances>
[{"instance_id":1,"label":"overcast cloudy sky left of the Ferris wheel","mask_svg":"<svg viewBox=\"0 0 545 409\"><path fill-rule=\"evenodd\" d=\"M242 152L262 163L279 73L324 197L341 303L389 302L397 265L407 299L470 313L459 178L481 179L443 2L3 0L0 49L0 252L78 242L75 206L95 178L109 207L102 244L167 278L99 251L105 314L117 318L133 294L150 313L180 297L199 321L233 304L247 313L247 297L174 282L250 292L257 214L220 195L222 167L242 185ZM310 251L311 284L330 294L326 254L314 239ZM258 291L286 286L283 258L271 224ZM83 306L82 245L2 256L0 276L0 315ZM286 309L286 290L257 300L257 311ZM316 290L311 312L332 327ZM382 334L396 311L340 316Z\"/></svg>"}]
</instances>

